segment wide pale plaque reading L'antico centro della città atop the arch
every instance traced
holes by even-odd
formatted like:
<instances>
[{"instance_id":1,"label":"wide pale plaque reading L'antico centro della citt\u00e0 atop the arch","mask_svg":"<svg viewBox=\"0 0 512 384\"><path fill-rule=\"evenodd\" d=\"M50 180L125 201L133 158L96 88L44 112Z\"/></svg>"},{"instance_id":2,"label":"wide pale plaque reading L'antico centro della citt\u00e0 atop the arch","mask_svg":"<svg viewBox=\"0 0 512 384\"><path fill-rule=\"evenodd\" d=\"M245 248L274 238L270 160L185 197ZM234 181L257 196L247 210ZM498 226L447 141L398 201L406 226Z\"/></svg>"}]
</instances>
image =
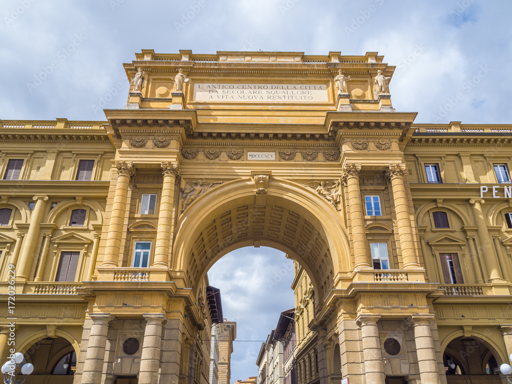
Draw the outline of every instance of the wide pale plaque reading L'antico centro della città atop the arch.
<instances>
[{"instance_id":1,"label":"wide pale plaque reading L'antico centro della citt\u00e0 atop the arch","mask_svg":"<svg viewBox=\"0 0 512 384\"><path fill-rule=\"evenodd\" d=\"M327 84L194 84L194 101L328 102Z\"/></svg>"}]
</instances>

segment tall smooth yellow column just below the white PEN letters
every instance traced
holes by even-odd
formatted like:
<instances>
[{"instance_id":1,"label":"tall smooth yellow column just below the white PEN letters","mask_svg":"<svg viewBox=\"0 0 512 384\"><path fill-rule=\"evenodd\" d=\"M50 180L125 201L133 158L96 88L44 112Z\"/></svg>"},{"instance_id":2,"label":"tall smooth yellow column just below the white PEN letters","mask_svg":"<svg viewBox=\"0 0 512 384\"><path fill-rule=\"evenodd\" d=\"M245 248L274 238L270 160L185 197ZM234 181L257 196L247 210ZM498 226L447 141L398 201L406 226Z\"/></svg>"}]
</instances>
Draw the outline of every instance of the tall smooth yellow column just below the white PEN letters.
<instances>
[{"instance_id":1,"label":"tall smooth yellow column just below the white PEN letters","mask_svg":"<svg viewBox=\"0 0 512 384\"><path fill-rule=\"evenodd\" d=\"M473 215L475 217L476 225L478 226L478 239L480 240L481 252L479 253L479 257L481 260L485 260L489 270L489 280L493 281L502 281L501 270L496 258L496 253L494 250L493 239L490 237L489 229L487 228L487 221L485 220L485 216L483 214L482 204L485 203L483 199L471 199L470 203L473 204ZM487 276L484 276L484 279Z\"/></svg>"}]
</instances>

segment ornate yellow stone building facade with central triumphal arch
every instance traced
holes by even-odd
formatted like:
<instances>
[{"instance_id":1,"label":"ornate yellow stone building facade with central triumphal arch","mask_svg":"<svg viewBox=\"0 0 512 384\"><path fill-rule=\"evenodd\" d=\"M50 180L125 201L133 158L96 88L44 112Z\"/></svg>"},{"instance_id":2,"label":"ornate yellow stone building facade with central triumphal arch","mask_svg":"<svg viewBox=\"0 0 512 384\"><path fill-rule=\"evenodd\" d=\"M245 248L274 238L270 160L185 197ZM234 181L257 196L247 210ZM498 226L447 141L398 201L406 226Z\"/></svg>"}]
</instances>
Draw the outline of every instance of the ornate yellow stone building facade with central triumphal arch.
<instances>
[{"instance_id":1,"label":"ornate yellow stone building facade with central triumphal arch","mask_svg":"<svg viewBox=\"0 0 512 384\"><path fill-rule=\"evenodd\" d=\"M74 351L52 382L206 383L206 272L244 246L306 278L299 382L506 382L511 125L415 124L376 52L124 68L106 121L0 122L0 355L15 334L27 382Z\"/></svg>"}]
</instances>

